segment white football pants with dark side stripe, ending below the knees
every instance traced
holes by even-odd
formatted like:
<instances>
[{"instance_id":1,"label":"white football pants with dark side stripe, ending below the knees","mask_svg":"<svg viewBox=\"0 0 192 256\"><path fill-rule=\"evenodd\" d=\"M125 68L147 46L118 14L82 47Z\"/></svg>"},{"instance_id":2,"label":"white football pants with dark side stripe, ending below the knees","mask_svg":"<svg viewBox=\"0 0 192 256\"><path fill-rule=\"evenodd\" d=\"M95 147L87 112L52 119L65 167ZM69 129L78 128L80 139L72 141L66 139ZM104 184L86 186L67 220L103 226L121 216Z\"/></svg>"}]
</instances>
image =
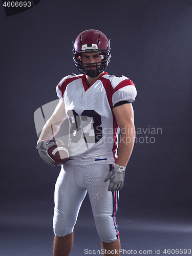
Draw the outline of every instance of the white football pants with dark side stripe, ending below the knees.
<instances>
[{"instance_id":1,"label":"white football pants with dark side stripe, ending below the knees","mask_svg":"<svg viewBox=\"0 0 192 256\"><path fill-rule=\"evenodd\" d=\"M101 241L117 240L119 232L115 222L119 191L108 191L108 182L103 182L112 165L74 165L61 167L55 184L55 210L53 229L57 237L73 232L78 212L87 192L93 217Z\"/></svg>"}]
</instances>

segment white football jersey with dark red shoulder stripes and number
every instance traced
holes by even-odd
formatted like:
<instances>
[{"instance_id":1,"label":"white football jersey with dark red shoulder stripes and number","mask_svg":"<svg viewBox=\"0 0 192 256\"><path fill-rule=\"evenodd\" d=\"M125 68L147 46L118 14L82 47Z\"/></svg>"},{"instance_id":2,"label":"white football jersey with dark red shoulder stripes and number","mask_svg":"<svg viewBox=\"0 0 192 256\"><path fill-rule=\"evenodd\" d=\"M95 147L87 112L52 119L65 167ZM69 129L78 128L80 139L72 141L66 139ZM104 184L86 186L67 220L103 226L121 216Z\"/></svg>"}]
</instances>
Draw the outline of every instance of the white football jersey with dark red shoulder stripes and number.
<instances>
[{"instance_id":1,"label":"white football jersey with dark red shoulder stripes and number","mask_svg":"<svg viewBox=\"0 0 192 256\"><path fill-rule=\"evenodd\" d=\"M114 164L119 127L112 108L120 101L135 100L134 83L105 72L88 87L86 75L69 75L61 79L56 91L70 122L68 163Z\"/></svg>"}]
</instances>

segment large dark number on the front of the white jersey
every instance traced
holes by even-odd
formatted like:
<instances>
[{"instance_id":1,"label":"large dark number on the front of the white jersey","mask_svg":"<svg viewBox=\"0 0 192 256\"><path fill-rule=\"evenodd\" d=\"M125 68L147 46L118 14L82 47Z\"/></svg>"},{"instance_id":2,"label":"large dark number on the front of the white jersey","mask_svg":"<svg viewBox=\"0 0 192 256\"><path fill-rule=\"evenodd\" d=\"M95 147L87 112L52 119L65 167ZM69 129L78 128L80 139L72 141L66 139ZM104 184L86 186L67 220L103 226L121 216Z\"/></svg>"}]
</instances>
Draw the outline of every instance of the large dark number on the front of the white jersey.
<instances>
[{"instance_id":1,"label":"large dark number on the front of the white jersey","mask_svg":"<svg viewBox=\"0 0 192 256\"><path fill-rule=\"evenodd\" d=\"M81 137L86 141L86 143L97 143L102 138L102 127L101 116L95 110L84 110L81 115L78 115L75 110L68 111L68 116L70 120L70 138L71 142L77 143ZM90 118L90 120L88 120ZM92 120L92 121L91 121ZM94 136L90 133L84 132L83 121L88 125L88 121L91 125L91 130L94 130Z\"/></svg>"}]
</instances>

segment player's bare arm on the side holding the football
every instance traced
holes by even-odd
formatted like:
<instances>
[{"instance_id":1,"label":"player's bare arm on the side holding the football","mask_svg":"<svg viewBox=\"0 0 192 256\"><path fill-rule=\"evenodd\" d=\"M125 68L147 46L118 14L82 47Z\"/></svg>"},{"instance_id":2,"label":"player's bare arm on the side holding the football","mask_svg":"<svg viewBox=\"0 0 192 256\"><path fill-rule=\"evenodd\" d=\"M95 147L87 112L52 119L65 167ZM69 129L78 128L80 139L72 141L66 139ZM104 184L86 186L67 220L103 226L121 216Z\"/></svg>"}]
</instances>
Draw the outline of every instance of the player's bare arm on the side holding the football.
<instances>
[{"instance_id":1,"label":"player's bare arm on the side holding the football","mask_svg":"<svg viewBox=\"0 0 192 256\"><path fill-rule=\"evenodd\" d=\"M39 140L50 141L58 133L60 125L66 117L65 105L60 99L52 116L44 125Z\"/></svg>"}]
</instances>

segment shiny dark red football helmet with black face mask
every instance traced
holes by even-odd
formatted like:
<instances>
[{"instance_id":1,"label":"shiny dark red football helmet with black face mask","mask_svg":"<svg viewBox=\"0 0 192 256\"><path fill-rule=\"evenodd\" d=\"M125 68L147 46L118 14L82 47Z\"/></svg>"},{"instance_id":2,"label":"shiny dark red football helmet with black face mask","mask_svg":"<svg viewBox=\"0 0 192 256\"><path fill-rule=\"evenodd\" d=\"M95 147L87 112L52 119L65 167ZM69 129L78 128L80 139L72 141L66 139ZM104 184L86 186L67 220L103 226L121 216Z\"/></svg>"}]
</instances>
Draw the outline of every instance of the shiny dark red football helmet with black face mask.
<instances>
[{"instance_id":1,"label":"shiny dark red football helmet with black face mask","mask_svg":"<svg viewBox=\"0 0 192 256\"><path fill-rule=\"evenodd\" d=\"M99 52L103 55L101 62L96 62L96 69L91 69L93 63L89 64L89 69L84 67L79 56L84 52ZM110 53L110 40L99 30L89 29L81 32L74 42L73 59L75 65L80 73L86 74L90 77L98 76L102 71L108 67L111 53Z\"/></svg>"}]
</instances>

